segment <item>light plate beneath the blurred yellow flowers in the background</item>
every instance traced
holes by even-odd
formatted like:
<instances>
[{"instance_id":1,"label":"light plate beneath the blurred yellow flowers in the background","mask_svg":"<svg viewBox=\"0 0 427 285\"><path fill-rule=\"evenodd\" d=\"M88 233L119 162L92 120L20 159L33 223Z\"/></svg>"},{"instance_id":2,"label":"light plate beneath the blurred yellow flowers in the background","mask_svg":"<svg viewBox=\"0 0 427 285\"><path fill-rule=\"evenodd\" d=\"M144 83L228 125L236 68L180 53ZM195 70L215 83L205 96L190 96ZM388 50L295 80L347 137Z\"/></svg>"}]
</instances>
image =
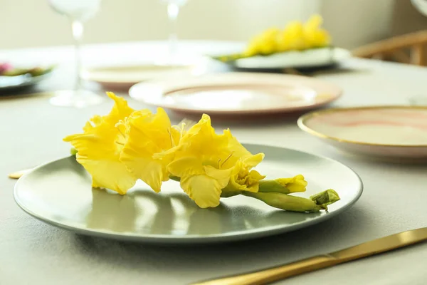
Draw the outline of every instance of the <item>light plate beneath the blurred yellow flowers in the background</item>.
<instances>
[{"instance_id":1,"label":"light plate beneath the blurred yellow flowers in the background","mask_svg":"<svg viewBox=\"0 0 427 285\"><path fill-rule=\"evenodd\" d=\"M351 56L352 53L344 48L313 48L307 51L287 51L271 56L241 58L229 64L248 69L320 68L332 66Z\"/></svg>"}]
</instances>

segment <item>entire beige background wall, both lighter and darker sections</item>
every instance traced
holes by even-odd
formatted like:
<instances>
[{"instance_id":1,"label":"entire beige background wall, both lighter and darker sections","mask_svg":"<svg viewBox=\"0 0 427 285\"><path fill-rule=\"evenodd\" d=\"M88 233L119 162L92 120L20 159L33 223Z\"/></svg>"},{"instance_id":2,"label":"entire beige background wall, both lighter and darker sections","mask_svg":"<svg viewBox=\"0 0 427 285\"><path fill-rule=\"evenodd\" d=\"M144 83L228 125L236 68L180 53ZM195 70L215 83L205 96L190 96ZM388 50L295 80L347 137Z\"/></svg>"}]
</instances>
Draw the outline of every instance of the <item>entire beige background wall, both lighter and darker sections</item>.
<instances>
[{"instance_id":1,"label":"entire beige background wall, both lighter and darker sections","mask_svg":"<svg viewBox=\"0 0 427 285\"><path fill-rule=\"evenodd\" d=\"M179 17L179 35L244 41L268 26L321 12L334 43L353 48L389 36L393 9L394 0L190 0ZM0 27L0 49L72 43L68 20L47 0L0 0ZM85 42L159 40L168 31L159 0L103 0Z\"/></svg>"}]
</instances>

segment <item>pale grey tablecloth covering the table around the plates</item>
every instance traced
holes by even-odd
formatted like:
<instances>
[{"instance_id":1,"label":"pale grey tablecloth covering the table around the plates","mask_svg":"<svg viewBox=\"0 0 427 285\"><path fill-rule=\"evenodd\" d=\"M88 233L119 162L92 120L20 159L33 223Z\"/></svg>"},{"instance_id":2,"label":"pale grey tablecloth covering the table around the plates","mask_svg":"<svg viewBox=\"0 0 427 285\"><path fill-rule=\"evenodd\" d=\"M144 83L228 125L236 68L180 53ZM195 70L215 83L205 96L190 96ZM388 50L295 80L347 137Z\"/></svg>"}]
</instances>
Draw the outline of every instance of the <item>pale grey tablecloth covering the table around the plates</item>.
<instances>
[{"instance_id":1,"label":"pale grey tablecloth covering the table around the plates","mask_svg":"<svg viewBox=\"0 0 427 285\"><path fill-rule=\"evenodd\" d=\"M182 58L225 53L242 43L181 41ZM86 67L137 64L162 58L160 41L102 43L83 47ZM73 87L73 47L0 50L14 63L55 63L48 80L33 89L0 91L0 284L191 284L215 277L278 266L335 252L371 239L427 226L427 165L381 162L339 152L297 127L300 114L269 118L218 118L216 128L231 128L241 142L277 145L330 157L362 178L359 201L342 214L304 229L272 237L205 245L156 245L90 237L45 224L14 202L16 180L9 172L65 157L65 135L78 133L94 114L106 114L110 100L88 108L49 103L51 91ZM209 62L208 72L230 71ZM210 69L209 69L210 68ZM307 73L343 90L328 107L408 105L413 95L427 95L427 68L362 58L348 58L335 68ZM105 94L100 86L87 88ZM146 108L129 100L133 108ZM148 107L152 108L152 107ZM171 113L173 123L181 115ZM286 159L286 157L283 157ZM338 179L338 177L337 177ZM295 276L275 284L426 284L427 243Z\"/></svg>"}]
</instances>

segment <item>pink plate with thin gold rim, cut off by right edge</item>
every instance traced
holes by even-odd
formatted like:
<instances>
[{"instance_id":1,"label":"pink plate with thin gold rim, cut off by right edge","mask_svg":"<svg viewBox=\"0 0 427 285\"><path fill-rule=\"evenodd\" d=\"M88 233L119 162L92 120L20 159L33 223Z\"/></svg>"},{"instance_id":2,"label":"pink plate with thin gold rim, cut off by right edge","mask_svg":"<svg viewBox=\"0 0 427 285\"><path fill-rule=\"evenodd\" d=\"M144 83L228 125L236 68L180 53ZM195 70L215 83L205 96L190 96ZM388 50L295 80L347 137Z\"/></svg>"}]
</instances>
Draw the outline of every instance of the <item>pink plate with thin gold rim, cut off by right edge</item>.
<instances>
[{"instance_id":1,"label":"pink plate with thin gold rim, cut off by right edge","mask_svg":"<svg viewBox=\"0 0 427 285\"><path fill-rule=\"evenodd\" d=\"M427 107L380 106L321 110L298 125L342 150L427 161Z\"/></svg>"}]
</instances>

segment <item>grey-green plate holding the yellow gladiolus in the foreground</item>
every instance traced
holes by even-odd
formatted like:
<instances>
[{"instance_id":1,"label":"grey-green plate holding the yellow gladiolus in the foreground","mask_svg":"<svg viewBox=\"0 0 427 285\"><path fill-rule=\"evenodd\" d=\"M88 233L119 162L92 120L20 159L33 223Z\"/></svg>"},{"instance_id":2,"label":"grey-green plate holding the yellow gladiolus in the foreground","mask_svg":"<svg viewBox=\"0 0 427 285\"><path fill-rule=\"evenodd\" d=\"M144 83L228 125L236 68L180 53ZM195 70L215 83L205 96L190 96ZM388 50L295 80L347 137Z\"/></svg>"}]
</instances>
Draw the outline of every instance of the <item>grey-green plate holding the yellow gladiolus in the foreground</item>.
<instances>
[{"instance_id":1,"label":"grey-green plate holding the yellow gladiolus in the foreground","mask_svg":"<svg viewBox=\"0 0 427 285\"><path fill-rule=\"evenodd\" d=\"M341 200L329 212L278 210L249 197L221 199L200 209L179 188L166 182L156 194L139 184L127 195L93 190L91 179L74 157L36 167L16 183L19 206L43 222L97 237L154 243L208 243L265 237L325 221L348 209L362 195L362 181L349 167L326 157L265 145L245 145L264 152L257 169L268 178L305 175L301 196L332 188Z\"/></svg>"}]
</instances>

